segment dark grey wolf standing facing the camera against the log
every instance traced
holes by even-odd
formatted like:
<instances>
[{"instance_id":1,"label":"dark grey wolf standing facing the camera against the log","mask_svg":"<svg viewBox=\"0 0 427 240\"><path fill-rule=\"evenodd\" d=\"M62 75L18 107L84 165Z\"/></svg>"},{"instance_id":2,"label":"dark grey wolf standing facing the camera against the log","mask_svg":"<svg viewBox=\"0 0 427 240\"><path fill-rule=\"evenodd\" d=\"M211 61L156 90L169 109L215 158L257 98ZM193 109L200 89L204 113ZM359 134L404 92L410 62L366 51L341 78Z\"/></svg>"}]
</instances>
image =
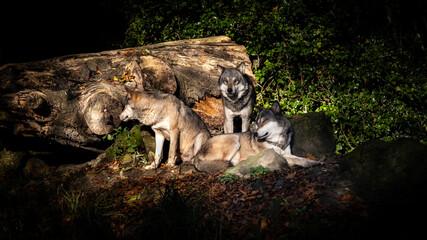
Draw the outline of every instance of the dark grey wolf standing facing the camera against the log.
<instances>
[{"instance_id":1,"label":"dark grey wolf standing facing the camera against the log","mask_svg":"<svg viewBox=\"0 0 427 240\"><path fill-rule=\"evenodd\" d=\"M218 89L222 96L224 109L224 133L235 132L233 120L240 117L242 132L249 130L250 118L255 104L255 89L251 79L244 73L245 63L237 68L218 65L221 74Z\"/></svg>"}]
</instances>

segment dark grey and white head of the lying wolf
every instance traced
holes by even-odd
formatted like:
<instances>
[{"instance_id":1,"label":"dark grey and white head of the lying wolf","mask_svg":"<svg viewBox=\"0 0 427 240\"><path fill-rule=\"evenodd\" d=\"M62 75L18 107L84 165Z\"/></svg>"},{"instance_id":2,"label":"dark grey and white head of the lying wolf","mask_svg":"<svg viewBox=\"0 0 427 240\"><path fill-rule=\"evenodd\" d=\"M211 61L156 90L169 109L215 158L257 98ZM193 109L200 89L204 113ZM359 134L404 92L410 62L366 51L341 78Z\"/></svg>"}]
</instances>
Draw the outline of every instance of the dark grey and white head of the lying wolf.
<instances>
[{"instance_id":1,"label":"dark grey and white head of the lying wolf","mask_svg":"<svg viewBox=\"0 0 427 240\"><path fill-rule=\"evenodd\" d=\"M277 144L287 145L292 136L291 124L280 112L277 102L274 102L270 109L264 109L259 113L253 131L259 141Z\"/></svg>"}]
</instances>

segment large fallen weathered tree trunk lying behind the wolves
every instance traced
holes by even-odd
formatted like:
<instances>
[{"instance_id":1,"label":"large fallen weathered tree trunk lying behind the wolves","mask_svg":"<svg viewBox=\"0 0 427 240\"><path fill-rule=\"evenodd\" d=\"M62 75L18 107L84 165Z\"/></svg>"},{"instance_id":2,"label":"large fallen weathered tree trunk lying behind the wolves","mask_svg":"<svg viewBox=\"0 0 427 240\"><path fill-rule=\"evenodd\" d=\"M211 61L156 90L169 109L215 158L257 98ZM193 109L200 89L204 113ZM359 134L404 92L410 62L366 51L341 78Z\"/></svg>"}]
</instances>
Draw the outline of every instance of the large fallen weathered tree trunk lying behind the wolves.
<instances>
[{"instance_id":1,"label":"large fallen weathered tree trunk lying behind the wolves","mask_svg":"<svg viewBox=\"0 0 427 240\"><path fill-rule=\"evenodd\" d=\"M100 136L120 124L125 84L176 94L196 105L202 119L212 119L208 126L220 127L217 65L240 62L253 77L245 47L221 36L6 64L0 67L0 127L96 151ZM204 112L201 100L216 110Z\"/></svg>"}]
</instances>

